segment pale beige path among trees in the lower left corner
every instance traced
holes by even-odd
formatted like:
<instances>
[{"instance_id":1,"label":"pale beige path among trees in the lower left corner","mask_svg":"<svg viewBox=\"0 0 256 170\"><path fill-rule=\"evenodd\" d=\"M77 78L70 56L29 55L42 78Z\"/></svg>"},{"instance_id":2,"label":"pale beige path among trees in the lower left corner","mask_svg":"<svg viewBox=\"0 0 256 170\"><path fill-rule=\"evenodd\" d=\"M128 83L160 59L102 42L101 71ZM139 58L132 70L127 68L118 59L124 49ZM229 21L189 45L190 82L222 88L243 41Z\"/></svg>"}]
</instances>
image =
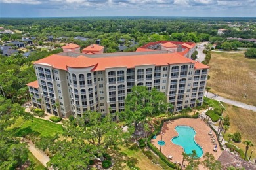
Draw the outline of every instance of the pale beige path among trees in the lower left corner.
<instances>
[{"instance_id":1,"label":"pale beige path among trees in the lower left corner","mask_svg":"<svg viewBox=\"0 0 256 170\"><path fill-rule=\"evenodd\" d=\"M45 154L45 152L35 148L35 144L32 143L32 141L28 141L28 149L30 152L39 160L45 167L47 167L46 163L50 161L49 156Z\"/></svg>"}]
</instances>

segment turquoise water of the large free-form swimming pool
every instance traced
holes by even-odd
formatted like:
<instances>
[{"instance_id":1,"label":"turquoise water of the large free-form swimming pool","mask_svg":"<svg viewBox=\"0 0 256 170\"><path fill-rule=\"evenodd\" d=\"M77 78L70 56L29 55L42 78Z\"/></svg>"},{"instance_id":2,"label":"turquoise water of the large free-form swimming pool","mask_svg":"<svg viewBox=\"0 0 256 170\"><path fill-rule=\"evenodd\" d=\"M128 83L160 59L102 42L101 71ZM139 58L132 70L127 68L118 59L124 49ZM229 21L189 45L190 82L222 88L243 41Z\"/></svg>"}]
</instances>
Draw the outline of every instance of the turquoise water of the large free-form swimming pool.
<instances>
[{"instance_id":1,"label":"turquoise water of the large free-form swimming pool","mask_svg":"<svg viewBox=\"0 0 256 170\"><path fill-rule=\"evenodd\" d=\"M196 154L198 157L201 157L203 155L203 149L194 140L196 131L194 131L192 127L176 126L175 130L177 131L177 133L179 133L179 135L171 139L174 144L182 146L186 154L192 154L192 150L196 150Z\"/></svg>"}]
</instances>

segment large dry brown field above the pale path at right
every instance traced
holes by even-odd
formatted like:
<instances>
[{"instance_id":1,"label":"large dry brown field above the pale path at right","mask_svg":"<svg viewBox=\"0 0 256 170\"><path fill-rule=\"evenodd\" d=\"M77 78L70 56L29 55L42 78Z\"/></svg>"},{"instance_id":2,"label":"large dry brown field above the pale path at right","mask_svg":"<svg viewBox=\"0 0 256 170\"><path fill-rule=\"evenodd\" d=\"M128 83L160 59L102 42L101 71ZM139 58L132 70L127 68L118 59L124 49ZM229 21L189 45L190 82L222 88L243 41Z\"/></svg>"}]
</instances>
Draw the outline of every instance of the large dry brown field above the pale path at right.
<instances>
[{"instance_id":1,"label":"large dry brown field above the pale path at right","mask_svg":"<svg viewBox=\"0 0 256 170\"><path fill-rule=\"evenodd\" d=\"M211 52L207 86L220 96L256 106L255 65L256 59L245 58L243 53Z\"/></svg>"}]
</instances>

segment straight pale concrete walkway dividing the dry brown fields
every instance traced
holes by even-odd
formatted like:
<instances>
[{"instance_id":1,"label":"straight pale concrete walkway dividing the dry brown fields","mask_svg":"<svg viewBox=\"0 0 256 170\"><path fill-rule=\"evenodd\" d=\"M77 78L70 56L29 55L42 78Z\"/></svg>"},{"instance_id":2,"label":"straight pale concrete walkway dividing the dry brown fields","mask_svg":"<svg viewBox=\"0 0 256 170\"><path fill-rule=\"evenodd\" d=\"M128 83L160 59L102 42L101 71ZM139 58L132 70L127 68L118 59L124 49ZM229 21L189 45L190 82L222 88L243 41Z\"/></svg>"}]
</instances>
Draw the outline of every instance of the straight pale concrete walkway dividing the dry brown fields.
<instances>
[{"instance_id":1,"label":"straight pale concrete walkway dividing the dry brown fields","mask_svg":"<svg viewBox=\"0 0 256 170\"><path fill-rule=\"evenodd\" d=\"M207 92L204 93L205 97L207 95ZM207 97L211 98L211 99L214 99L214 100L217 100L217 101L222 101L224 103L228 103L230 105L234 105L236 107L241 107L241 108L244 108L244 109L247 109L247 110L251 110L253 112L256 112L256 107L253 106L253 105L247 105L245 103L242 103L240 101L234 101L234 100L230 100L230 99L226 99L224 97L221 97L219 95L215 95L213 93L210 93L208 92L208 95Z\"/></svg>"}]
</instances>

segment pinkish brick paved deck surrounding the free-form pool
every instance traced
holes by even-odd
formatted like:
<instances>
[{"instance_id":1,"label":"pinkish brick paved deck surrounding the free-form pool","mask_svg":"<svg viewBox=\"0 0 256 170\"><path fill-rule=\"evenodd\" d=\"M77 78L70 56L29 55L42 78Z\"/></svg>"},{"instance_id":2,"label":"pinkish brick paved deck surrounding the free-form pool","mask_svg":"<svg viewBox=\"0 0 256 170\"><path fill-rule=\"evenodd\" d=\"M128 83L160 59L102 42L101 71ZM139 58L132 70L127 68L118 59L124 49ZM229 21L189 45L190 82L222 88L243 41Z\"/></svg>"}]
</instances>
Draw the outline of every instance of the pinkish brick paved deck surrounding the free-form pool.
<instances>
[{"instance_id":1,"label":"pinkish brick paved deck surrounding the free-form pool","mask_svg":"<svg viewBox=\"0 0 256 170\"><path fill-rule=\"evenodd\" d=\"M219 156L221 155L221 148L219 147L219 144L217 146L217 152L213 152L213 148L215 148L215 145L211 143L211 137L208 135L208 133L211 131L211 128L203 122L200 118L192 119L192 118L181 118L177 120L170 120L163 124L163 128L161 129L161 133L165 133L163 135L163 141L165 141L165 145L161 146L161 152L168 157L169 155L173 156L172 162L179 162L182 163L182 152L183 148L181 146L178 146L176 144L173 144L171 142L171 139L173 137L176 137L178 135L177 131L175 131L175 127L179 125L186 125L191 126L196 131L196 136L194 139L196 140L196 143L198 143L202 149L203 154L205 152L209 152L213 154L215 159L217 160ZM160 145L158 145L158 141L161 140L161 133L160 135L156 136L156 139L152 139L151 142L160 150ZM215 133L212 131L213 135L215 136L215 143L217 142L217 138ZM203 160L203 156L201 158ZM184 163L186 165L186 163ZM202 165L200 165L200 169L203 169Z\"/></svg>"}]
</instances>

